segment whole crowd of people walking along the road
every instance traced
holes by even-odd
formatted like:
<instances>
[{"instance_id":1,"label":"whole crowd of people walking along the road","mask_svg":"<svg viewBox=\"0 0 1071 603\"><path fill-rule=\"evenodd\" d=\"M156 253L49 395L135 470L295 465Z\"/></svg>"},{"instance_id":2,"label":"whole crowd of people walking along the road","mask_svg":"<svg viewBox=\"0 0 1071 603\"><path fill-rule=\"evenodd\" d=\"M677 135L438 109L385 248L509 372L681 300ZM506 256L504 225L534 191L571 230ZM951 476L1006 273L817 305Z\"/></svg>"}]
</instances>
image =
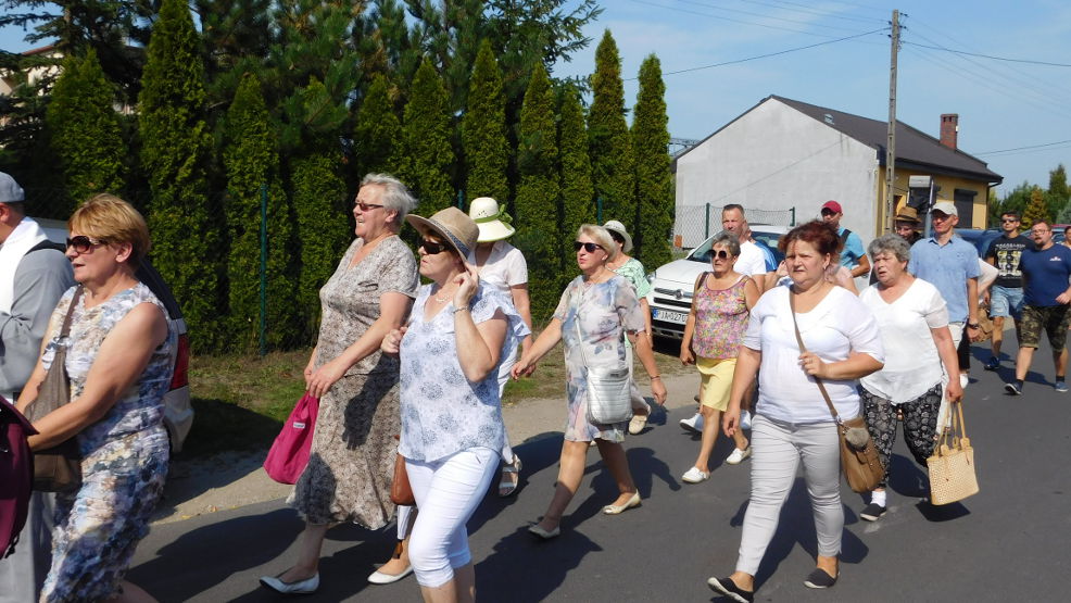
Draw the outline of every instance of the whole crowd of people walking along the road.
<instances>
[{"instance_id":1,"label":"whole crowd of people walking along the road","mask_svg":"<svg viewBox=\"0 0 1071 603\"><path fill-rule=\"evenodd\" d=\"M65 248L50 244L26 216L27 203L0 174L0 394L32 413L53 360L65 359L71 402L36 418L29 445L76 441L83 477L71 491L35 493L22 545L0 561L0 601L152 601L124 580L163 491L169 453L162 397L176 334L136 276L149 231L129 203L98 194L71 217ZM319 334L303 374L319 415L288 503L305 525L290 567L262 577L264 588L316 592L332 526L378 530L394 523L398 543L369 582L414 574L425 601L474 601L466 523L489 490L515 494L524 468L503 423L505 385L531 375L559 341L564 441L553 495L528 531L539 541L562 533L592 447L618 491L602 512L642 504L623 442L645 430L651 401L664 404L667 390L653 352L650 285L628 255L626 227L609 221L579 228L571 244L580 274L537 336L526 259L507 242L515 229L504 206L479 198L467 214L449 208L426 217L413 214L416 206L392 176L369 174L361 183L355 238L319 291ZM948 424L948 405L962 399L970 364L962 354L981 337L986 314L995 324L986 369L1000 366L1004 318L1016 323L1009 394L1023 392L1043 329L1054 387L1068 389L1071 249L1054 244L1050 224L1035 222L1028 239L1019 216L1004 214L1003 234L982 261L955 236L958 212L947 201L930 212L932 236L921 236L918 215L904 208L894 233L867 248L842 217L841 204L827 202L821 219L781 238L784 261L777 263L751 237L744 209L727 205L709 269L690 296L679 357L697 369L700 410L681 425L702 436L681 479L711 478L720 434L734 444L728 465L751 460L735 568L708 580L735 601L754 599L755 575L801 465L818 540L804 583L829 588L837 580L844 512L831 407L844 420L866 417L886 468L903 423L908 449L924 466ZM404 225L418 235L416 256L400 237ZM859 291L856 284L868 276L870 286ZM646 373L650 399L634 361ZM593 423L590 375L621 368L631 419ZM391 501L399 463L415 504ZM864 519L885 514L887 482L886 473Z\"/></svg>"}]
</instances>

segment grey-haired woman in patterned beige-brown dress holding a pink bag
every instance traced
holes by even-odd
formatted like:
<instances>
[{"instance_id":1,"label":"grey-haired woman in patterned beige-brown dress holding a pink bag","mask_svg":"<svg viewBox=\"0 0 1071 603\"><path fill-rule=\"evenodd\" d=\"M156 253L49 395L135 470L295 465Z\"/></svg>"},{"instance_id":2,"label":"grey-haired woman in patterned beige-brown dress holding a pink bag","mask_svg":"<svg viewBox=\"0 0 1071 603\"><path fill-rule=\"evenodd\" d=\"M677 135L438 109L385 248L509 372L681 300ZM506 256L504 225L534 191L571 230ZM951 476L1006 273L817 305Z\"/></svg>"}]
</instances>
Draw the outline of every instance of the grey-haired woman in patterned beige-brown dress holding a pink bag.
<instances>
[{"instance_id":1,"label":"grey-haired woman in patterned beige-brown dress holding a pink bag","mask_svg":"<svg viewBox=\"0 0 1071 603\"><path fill-rule=\"evenodd\" d=\"M287 500L304 517L305 529L294 564L261 578L278 592L316 591L328 527L352 522L375 530L394 517L390 485L400 429L399 365L379 348L404 323L419 284L413 252L398 237L402 218L415 206L398 179L365 176L353 205L357 238L319 291L319 337L304 372L305 387L319 398L319 415L308 465ZM410 571L400 545L373 577L393 581Z\"/></svg>"}]
</instances>

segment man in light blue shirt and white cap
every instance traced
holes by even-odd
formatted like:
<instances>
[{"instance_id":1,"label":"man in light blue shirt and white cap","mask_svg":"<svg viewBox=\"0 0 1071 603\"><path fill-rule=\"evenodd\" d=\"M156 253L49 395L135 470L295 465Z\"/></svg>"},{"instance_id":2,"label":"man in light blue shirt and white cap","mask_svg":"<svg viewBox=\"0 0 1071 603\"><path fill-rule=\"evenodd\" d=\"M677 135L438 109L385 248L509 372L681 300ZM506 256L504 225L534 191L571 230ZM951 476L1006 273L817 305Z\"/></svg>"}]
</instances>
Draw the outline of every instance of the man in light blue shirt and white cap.
<instances>
[{"instance_id":1,"label":"man in light blue shirt and white cap","mask_svg":"<svg viewBox=\"0 0 1071 603\"><path fill-rule=\"evenodd\" d=\"M953 343L958 348L966 335L970 341L978 340L978 251L974 246L955 236L959 224L959 213L952 201L938 201L930 212L933 222L933 236L911 246L911 260L907 272L937 288L937 292L948 304L948 330ZM966 330L966 334L965 334ZM952 370L952 369L949 369ZM946 375L948 379L959 379L956 374ZM941 402L937 414L937 428L943 429L948 416L947 404Z\"/></svg>"}]
</instances>

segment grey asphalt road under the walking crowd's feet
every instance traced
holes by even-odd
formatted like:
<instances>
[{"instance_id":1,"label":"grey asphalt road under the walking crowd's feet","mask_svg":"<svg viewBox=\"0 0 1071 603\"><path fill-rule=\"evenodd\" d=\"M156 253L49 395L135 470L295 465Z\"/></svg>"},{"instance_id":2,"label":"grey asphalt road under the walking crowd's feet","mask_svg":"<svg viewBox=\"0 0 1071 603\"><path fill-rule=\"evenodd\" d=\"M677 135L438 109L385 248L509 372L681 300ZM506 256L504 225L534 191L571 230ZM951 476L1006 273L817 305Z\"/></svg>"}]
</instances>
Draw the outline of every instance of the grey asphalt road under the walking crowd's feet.
<instances>
[{"instance_id":1,"label":"grey asphalt road under the walking crowd's feet","mask_svg":"<svg viewBox=\"0 0 1071 603\"><path fill-rule=\"evenodd\" d=\"M1009 363L999 374L983 372L980 360L987 350L974 350L976 381L966 390L965 411L979 494L941 507L920 502L927 475L897 442L889 513L878 523L859 519L864 501L843 487L841 579L830 591L814 591L803 586L816 544L806 488L797 477L759 570L756 600L1066 601L1071 394L1053 390L1049 353L1040 352L1035 368L1045 378L1032 373L1025 394L1012 398L1000 381L1010 377ZM751 461L716 466L702 485L681 482L698 448L698 438L677 425L688 414L680 409L657 415L653 427L627 441L643 505L621 515L598 513L615 489L592 450L563 535L549 542L537 542L525 527L550 501L562 436L549 432L515 447L525 460L519 494L489 495L469 523L478 599L722 601L706 579L732 571ZM715 457L723 460L730 450L721 438ZM289 567L301 527L281 500L159 524L138 549L128 578L164 602L287 600L261 588L257 577ZM320 590L302 600L419 601L412 577L390 586L365 581L392 545L391 528L332 529Z\"/></svg>"}]
</instances>

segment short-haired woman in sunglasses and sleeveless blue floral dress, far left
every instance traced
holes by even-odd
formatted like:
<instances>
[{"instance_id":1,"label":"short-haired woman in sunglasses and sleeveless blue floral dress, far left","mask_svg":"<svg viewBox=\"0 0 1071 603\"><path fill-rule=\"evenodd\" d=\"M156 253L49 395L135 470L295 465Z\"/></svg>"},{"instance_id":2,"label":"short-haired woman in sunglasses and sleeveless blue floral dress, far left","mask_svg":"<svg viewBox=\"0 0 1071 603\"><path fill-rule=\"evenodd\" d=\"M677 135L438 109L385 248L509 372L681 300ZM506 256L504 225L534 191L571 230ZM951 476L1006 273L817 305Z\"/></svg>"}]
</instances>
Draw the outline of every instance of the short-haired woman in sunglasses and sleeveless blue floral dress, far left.
<instances>
[{"instance_id":1,"label":"short-haired woman in sunglasses and sleeveless blue floral dress, far left","mask_svg":"<svg viewBox=\"0 0 1071 603\"><path fill-rule=\"evenodd\" d=\"M71 402L37 418L33 450L72 438L81 485L56 494L52 566L41 601L152 601L123 580L164 490L169 457L164 394L177 335L164 304L135 272L149 251L141 214L111 194L86 201L67 223L77 287L60 299L42 355L18 400L34 404L56 352L66 348ZM60 337L71 317L70 336Z\"/></svg>"}]
</instances>

